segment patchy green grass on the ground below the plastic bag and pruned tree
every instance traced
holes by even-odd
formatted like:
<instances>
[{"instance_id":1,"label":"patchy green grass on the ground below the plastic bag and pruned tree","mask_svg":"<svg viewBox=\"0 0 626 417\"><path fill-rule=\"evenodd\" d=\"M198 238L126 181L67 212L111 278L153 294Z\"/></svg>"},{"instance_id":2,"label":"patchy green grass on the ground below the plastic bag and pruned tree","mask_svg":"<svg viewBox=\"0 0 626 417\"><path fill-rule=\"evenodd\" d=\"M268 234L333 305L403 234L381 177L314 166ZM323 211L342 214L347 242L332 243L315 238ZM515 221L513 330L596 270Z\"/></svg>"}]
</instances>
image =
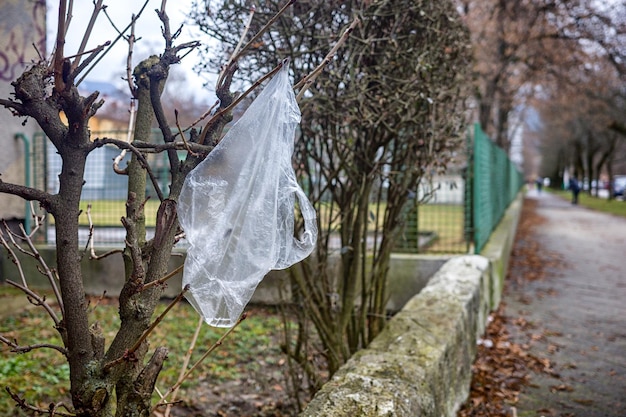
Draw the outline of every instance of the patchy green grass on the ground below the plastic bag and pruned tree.
<instances>
[{"instance_id":1,"label":"patchy green grass on the ground below the plastic bag and pruned tree","mask_svg":"<svg viewBox=\"0 0 626 417\"><path fill-rule=\"evenodd\" d=\"M7 290L0 285L0 295ZM11 296L16 296L12 289ZM1 299L1 297L0 297ZM160 306L158 311L164 308ZM98 305L91 313L91 321L99 321L107 343L110 343L119 326L118 306L116 302ZM180 372L183 357L189 348L198 323L199 316L187 303L174 307L151 336L150 347L166 346L168 359L157 382L161 392L172 386ZM216 329L203 324L196 351L192 356L193 364L206 350L217 341L226 329ZM0 334L16 339L20 345L50 343L61 345L57 331L42 308L33 307L14 315L0 319ZM237 380L247 373L258 370L260 360L272 360L280 356L280 347L274 341L282 334L282 323L278 315L267 314L254 309L252 313L229 335L224 344L215 350L204 365L183 384L185 389L192 388L201 380L212 383ZM52 401L67 400L69 395L69 367L61 353L52 349L35 349L25 354L10 352L10 348L0 345L0 415L11 415L15 409L13 400L4 387L25 397L29 403L46 407ZM191 395L191 394L190 394ZM64 398L65 397L65 398ZM155 394L156 401L156 394ZM19 414L18 414L19 415Z\"/></svg>"}]
</instances>

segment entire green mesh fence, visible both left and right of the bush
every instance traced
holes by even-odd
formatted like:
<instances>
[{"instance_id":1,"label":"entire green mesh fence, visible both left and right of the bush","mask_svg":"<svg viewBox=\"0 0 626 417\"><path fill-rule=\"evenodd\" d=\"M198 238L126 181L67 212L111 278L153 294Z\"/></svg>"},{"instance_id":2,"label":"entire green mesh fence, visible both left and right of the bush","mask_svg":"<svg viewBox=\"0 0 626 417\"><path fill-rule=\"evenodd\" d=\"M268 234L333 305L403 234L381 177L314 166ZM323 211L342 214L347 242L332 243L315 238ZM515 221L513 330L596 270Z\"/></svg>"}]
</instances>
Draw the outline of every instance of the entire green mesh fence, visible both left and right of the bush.
<instances>
[{"instance_id":1,"label":"entire green mesh fence, visible both left and right of the bush","mask_svg":"<svg viewBox=\"0 0 626 417\"><path fill-rule=\"evenodd\" d=\"M98 132L97 135L125 137L124 132ZM160 133L155 131L154 135ZM424 180L414 190L415 198L406 208L405 228L397 245L399 252L457 254L469 252L472 246L479 252L517 195L522 186L522 176L506 153L489 140L479 125L475 125L473 138L470 139L473 140L468 141L466 158L461 156L458 158L460 162L449 167L445 175ZM120 218L125 215L127 177L113 172L113 159L118 154L117 148L105 146L93 152L87 160L81 202L81 241L86 241L89 236L86 211L90 205L91 221L95 227L92 236L94 244L123 245L124 229ZM31 185L55 193L60 158L53 147L47 146L43 134L32 138L27 158L30 159ZM155 176L162 183L162 189L167 190L169 172L165 155L150 154L148 158ZM150 183L146 191L148 195L155 194ZM157 208L157 198L146 202L149 230L154 226ZM26 218L30 217L27 212ZM53 219L46 218L45 226L40 241L52 243L55 237Z\"/></svg>"}]
</instances>

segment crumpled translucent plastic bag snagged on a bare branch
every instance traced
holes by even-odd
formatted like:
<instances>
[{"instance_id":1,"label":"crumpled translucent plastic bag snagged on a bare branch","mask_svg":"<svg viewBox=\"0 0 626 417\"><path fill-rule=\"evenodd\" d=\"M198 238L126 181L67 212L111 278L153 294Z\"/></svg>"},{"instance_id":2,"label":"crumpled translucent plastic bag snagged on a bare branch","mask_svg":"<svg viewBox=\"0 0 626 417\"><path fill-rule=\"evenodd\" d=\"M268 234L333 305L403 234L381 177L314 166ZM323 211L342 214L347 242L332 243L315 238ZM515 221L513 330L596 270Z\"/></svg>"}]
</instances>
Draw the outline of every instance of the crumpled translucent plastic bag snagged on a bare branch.
<instances>
[{"instance_id":1,"label":"crumpled translucent plastic bag snagged on a bare branch","mask_svg":"<svg viewBox=\"0 0 626 417\"><path fill-rule=\"evenodd\" d=\"M187 176L178 218L189 242L183 287L212 326L232 327L271 269L309 256L315 210L291 157L300 109L287 64L209 156ZM294 236L296 200L304 219Z\"/></svg>"}]
</instances>

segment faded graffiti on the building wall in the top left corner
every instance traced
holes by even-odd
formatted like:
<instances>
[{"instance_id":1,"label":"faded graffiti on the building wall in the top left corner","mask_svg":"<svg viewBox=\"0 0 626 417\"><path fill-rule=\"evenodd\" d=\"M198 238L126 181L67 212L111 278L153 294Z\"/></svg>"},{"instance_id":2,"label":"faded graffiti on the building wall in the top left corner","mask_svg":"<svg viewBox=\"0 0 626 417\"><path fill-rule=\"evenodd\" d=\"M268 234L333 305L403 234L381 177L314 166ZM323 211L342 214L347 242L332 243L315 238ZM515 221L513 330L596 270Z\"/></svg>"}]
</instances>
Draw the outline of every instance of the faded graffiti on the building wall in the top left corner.
<instances>
[{"instance_id":1,"label":"faded graffiti on the building wall in the top left corner","mask_svg":"<svg viewBox=\"0 0 626 417\"><path fill-rule=\"evenodd\" d=\"M0 80L13 81L46 53L46 1L0 1Z\"/></svg>"}]
</instances>

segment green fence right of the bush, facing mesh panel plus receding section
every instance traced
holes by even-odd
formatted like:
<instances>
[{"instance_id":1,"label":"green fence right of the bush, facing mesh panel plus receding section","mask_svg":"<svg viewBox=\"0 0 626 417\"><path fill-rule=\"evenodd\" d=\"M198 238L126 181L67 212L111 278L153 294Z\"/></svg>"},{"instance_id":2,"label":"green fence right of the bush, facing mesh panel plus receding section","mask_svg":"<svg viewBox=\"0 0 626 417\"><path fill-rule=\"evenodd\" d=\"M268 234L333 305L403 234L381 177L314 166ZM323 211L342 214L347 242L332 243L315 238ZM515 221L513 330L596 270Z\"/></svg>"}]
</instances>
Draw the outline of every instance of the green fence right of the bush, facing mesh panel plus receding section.
<instances>
[{"instance_id":1,"label":"green fence right of the bush, facing mesh panel plus receding section","mask_svg":"<svg viewBox=\"0 0 626 417\"><path fill-rule=\"evenodd\" d=\"M420 194L431 196L407 209L401 251L479 253L519 193L523 176L506 152L479 124L473 130L465 166L435 178L427 190L421 185Z\"/></svg>"}]
</instances>

